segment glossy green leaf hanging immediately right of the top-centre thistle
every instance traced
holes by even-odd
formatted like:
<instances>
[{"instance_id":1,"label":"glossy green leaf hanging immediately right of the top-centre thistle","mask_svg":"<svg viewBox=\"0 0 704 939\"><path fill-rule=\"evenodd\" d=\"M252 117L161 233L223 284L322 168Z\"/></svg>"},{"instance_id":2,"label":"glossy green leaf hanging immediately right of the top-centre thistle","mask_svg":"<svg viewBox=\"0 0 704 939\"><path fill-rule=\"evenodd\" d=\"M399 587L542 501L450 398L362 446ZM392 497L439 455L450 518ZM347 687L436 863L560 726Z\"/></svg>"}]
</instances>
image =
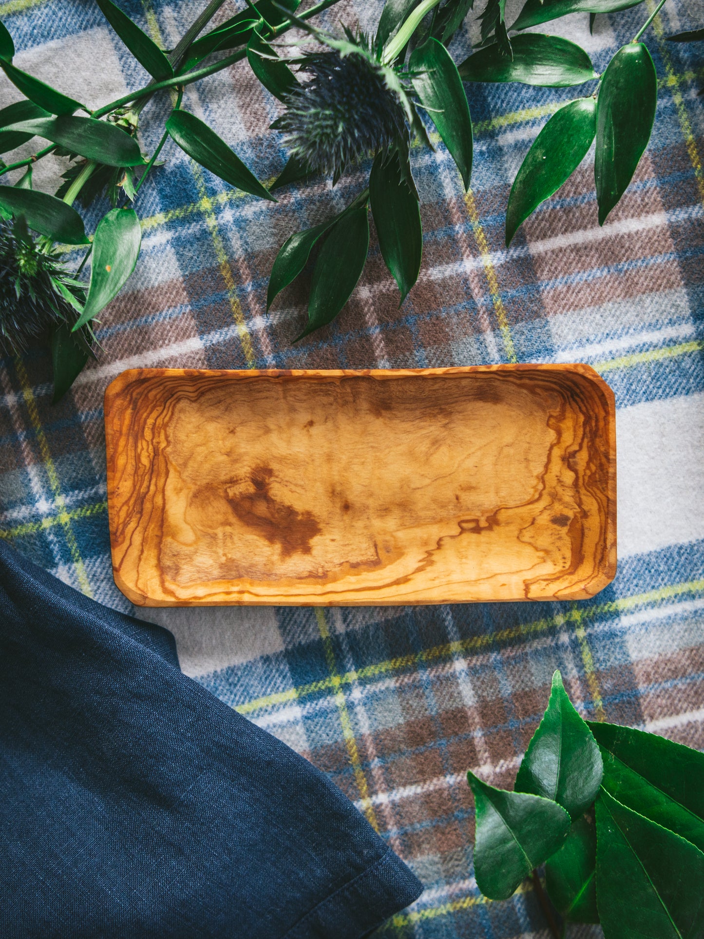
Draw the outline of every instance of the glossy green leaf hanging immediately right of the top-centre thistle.
<instances>
[{"instance_id":1,"label":"glossy green leaf hanging immediately right of the top-centre thistle","mask_svg":"<svg viewBox=\"0 0 704 939\"><path fill-rule=\"evenodd\" d=\"M416 94L450 150L467 190L472 173L472 121L457 67L445 46L429 38L414 49L408 69L415 73L412 82Z\"/></svg>"}]
</instances>

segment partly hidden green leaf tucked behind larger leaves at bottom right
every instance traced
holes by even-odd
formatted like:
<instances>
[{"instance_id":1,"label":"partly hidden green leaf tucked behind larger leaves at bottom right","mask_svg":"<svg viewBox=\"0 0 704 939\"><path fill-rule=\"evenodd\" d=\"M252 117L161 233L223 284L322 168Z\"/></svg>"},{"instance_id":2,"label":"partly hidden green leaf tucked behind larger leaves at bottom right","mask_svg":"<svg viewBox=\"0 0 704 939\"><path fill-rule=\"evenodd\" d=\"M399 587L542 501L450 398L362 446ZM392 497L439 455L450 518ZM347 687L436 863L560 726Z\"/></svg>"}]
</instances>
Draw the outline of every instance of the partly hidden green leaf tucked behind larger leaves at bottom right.
<instances>
[{"instance_id":1,"label":"partly hidden green leaf tucked behind larger leaves at bottom right","mask_svg":"<svg viewBox=\"0 0 704 939\"><path fill-rule=\"evenodd\" d=\"M598 923L596 829L580 816L558 852L545 861L545 887L556 910L577 923Z\"/></svg>"}]
</instances>

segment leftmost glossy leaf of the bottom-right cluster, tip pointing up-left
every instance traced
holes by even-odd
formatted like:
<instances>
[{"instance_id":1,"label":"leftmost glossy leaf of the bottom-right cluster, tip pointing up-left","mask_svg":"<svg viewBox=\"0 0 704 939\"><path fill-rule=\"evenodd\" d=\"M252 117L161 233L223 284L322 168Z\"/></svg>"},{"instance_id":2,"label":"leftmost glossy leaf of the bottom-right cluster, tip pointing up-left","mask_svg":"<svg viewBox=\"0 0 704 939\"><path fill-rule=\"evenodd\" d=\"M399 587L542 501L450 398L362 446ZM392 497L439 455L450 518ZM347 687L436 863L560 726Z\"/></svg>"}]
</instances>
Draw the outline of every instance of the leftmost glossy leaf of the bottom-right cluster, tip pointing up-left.
<instances>
[{"instance_id":1,"label":"leftmost glossy leaf of the bottom-right cluster, tip pointing up-left","mask_svg":"<svg viewBox=\"0 0 704 939\"><path fill-rule=\"evenodd\" d=\"M559 850L570 816L542 796L495 789L470 772L467 781L477 817L477 886L490 900L507 900L531 870Z\"/></svg>"}]
</instances>

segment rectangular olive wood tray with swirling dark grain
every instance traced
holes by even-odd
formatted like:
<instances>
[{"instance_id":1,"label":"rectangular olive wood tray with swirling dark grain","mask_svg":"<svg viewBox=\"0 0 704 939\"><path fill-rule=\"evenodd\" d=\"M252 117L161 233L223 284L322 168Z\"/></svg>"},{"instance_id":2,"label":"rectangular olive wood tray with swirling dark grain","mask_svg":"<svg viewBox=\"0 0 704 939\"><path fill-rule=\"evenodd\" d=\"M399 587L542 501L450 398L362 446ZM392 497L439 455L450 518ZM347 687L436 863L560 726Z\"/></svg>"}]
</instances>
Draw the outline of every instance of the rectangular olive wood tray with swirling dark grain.
<instances>
[{"instance_id":1,"label":"rectangular olive wood tray with swirling dark grain","mask_svg":"<svg viewBox=\"0 0 704 939\"><path fill-rule=\"evenodd\" d=\"M149 607L592 596L616 573L614 412L581 364L123 372L115 582Z\"/></svg>"}]
</instances>

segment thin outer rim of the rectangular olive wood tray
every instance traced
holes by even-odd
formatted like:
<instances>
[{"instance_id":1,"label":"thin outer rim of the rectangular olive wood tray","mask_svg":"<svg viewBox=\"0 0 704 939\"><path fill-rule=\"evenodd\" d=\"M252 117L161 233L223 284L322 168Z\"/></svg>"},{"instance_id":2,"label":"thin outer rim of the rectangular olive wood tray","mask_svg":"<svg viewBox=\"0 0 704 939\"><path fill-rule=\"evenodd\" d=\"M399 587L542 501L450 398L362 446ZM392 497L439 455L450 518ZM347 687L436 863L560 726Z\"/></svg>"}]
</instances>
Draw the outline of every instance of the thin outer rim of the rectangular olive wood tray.
<instances>
[{"instance_id":1,"label":"thin outer rim of the rectangular olive wood tray","mask_svg":"<svg viewBox=\"0 0 704 939\"><path fill-rule=\"evenodd\" d=\"M268 379L316 379L320 381L336 380L340 378L359 378L367 377L376 380L395 380L404 377L429 377L429 378L453 378L467 377L475 374L491 374L496 372L559 372L561 374L572 373L587 378L601 393L605 401L605 414L608 425L608 453L607 463L609 467L608 478L605 485L605 495L607 502L607 511L605 518L605 567L594 576L598 586L584 595L584 591L576 591L574 596L569 593L563 593L559 597L497 597L482 600L465 601L442 601L435 599L414 599L407 603L399 602L399 598L384 599L375 597L374 602L361 600L355 603L353 600L338 602L334 598L308 597L308 596L288 596L283 601L285 594L279 594L279 597L269 599L268 597L257 597L252 600L202 600L194 599L173 603L163 601L153 597L145 597L142 593L134 591L118 570L115 569L114 551L113 551L113 525L111 521L111 505L115 494L115 481L111 468L111 460L107 459L107 506L108 506L108 526L111 546L111 562L113 566L113 577L117 589L123 593L131 603L137 607L146 608L167 608L167 607L240 607L240 606L265 606L265 607L352 607L352 606L438 606L443 603L555 603L575 599L588 599L591 596L600 593L616 577L617 560L617 467L616 467L616 397L613 390L605 382L605 379L586 362L501 362L488 365L451 365L439 368L372 368L372 369L210 369L210 368L130 368L125 369L117 375L105 389L103 395L103 415L105 426L105 447L106 456L109 453L112 435L109 430L109 414L112 408L113 400L118 397L133 382L143 379L156 377L177 378L177 377L222 377L234 378L236 380L255 380L258 378ZM110 442L109 442L110 441Z\"/></svg>"}]
</instances>

